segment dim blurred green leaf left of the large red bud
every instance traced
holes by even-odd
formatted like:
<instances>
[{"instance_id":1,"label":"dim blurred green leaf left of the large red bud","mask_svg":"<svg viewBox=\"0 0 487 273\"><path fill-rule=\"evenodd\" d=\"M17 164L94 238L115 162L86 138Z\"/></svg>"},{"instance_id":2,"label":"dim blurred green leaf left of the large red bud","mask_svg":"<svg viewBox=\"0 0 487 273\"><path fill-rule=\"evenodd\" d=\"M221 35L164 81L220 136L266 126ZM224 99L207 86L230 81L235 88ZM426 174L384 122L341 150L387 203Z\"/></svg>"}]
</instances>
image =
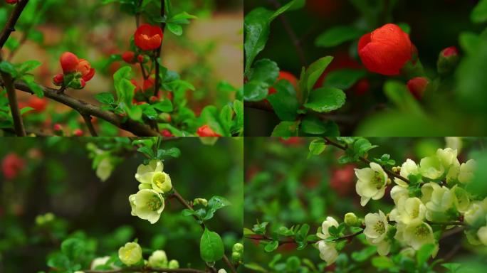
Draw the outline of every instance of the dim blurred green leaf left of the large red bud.
<instances>
[{"instance_id":1,"label":"dim blurred green leaf left of the large red bud","mask_svg":"<svg viewBox=\"0 0 487 273\"><path fill-rule=\"evenodd\" d=\"M316 38L315 45L323 48L331 48L347 41L355 40L362 36L363 33L363 31L355 26L335 26L321 33Z\"/></svg>"}]
</instances>

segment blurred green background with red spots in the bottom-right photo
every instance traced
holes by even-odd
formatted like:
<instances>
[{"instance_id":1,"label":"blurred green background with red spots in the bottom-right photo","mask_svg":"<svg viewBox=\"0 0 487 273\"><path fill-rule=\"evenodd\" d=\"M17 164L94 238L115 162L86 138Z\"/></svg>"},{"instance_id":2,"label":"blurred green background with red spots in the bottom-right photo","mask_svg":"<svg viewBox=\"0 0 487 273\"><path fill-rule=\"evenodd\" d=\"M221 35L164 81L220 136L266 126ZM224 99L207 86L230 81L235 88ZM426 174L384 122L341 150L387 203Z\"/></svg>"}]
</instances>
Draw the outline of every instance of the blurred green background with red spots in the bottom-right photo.
<instances>
[{"instance_id":1,"label":"blurred green background with red spots in the bottom-right photo","mask_svg":"<svg viewBox=\"0 0 487 273\"><path fill-rule=\"evenodd\" d=\"M360 196L355 192L354 168L365 168L365 164L338 164L337 159L342 151L327 146L320 156L308 157L308 145L313 138L247 138L245 140L245 202L244 227L253 228L256 223L268 222L268 233L281 225L290 228L293 225L309 224L310 234L315 234L318 227L327 216L332 216L338 222L343 221L345 213L353 212L363 218L367 213L382 210L389 212L394 203L389 196L393 185L386 190L381 200L372 200L365 207L360 205ZM396 161L395 166L401 166L406 159L419 163L424 156L436 154L436 149L447 145L459 147L459 161L476 159L479 170L477 180L472 185L471 192L478 196L487 196L485 184L486 171L481 169L487 159L487 139L450 139L444 138L369 138L373 145L379 147L369 153L369 158L390 154ZM478 186L478 187L477 187ZM476 188L477 187L477 188ZM256 240L245 240L245 257L247 263L258 264L269 270L276 264L286 264L290 257L299 257L303 267L308 259L316 267L325 268L325 262L320 259L320 252L308 245L304 250L296 250L295 244L286 244L276 252L267 253ZM330 272L376 272L370 265L370 259L357 262L352 258L353 252L364 250L366 247L360 239L347 244L336 264L327 267ZM454 250L453 253L450 253ZM355 254L354 254L355 255ZM377 255L373 252L370 255ZM279 259L278 259L279 257ZM486 266L487 247L470 245L463 233L457 233L440 241L439 253L436 259L446 259L444 262L461 262L463 266L470 264L473 271ZM352 265L354 266L353 268ZM446 272L443 267L437 267L438 272ZM465 269L465 268L464 268ZM306 272L299 269L288 272ZM326 271L326 270L325 270ZM325 272L323 271L323 272ZM273 272L270 270L268 272ZM287 271L286 271L287 272ZM311 271L313 272L313 271Z\"/></svg>"}]
</instances>

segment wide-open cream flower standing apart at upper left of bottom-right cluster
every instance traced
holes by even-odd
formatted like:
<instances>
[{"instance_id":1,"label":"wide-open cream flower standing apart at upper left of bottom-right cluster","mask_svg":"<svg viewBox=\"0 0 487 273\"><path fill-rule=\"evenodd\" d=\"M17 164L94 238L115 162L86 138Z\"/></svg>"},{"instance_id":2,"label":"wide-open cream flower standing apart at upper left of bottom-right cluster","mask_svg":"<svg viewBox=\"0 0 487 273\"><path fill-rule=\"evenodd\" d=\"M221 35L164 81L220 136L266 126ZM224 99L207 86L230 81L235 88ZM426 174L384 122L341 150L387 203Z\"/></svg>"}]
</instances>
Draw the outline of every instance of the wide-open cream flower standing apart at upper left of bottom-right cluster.
<instances>
[{"instance_id":1,"label":"wide-open cream flower standing apart at upper left of bottom-right cluster","mask_svg":"<svg viewBox=\"0 0 487 273\"><path fill-rule=\"evenodd\" d=\"M370 163L370 168L355 169L358 181L355 190L360 196L360 205L365 206L372 198L379 200L384 196L387 185L387 173L377 163Z\"/></svg>"}]
</instances>

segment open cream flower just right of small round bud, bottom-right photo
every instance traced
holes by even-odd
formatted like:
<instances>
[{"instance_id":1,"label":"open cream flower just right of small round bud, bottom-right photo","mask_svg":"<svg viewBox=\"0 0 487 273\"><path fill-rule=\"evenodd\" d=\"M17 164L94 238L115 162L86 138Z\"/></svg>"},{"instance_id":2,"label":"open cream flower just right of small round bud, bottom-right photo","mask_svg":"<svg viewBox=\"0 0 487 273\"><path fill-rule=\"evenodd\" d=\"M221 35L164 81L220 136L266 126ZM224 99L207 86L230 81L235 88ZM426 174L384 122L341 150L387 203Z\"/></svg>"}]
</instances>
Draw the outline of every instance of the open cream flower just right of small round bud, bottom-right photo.
<instances>
[{"instance_id":1,"label":"open cream flower just right of small round bud, bottom-right photo","mask_svg":"<svg viewBox=\"0 0 487 273\"><path fill-rule=\"evenodd\" d=\"M369 213L365 215L364 235L367 242L377 246L379 255L387 255L391 249L391 244L387 239L389 224L387 217L379 210L379 213Z\"/></svg>"}]
</instances>

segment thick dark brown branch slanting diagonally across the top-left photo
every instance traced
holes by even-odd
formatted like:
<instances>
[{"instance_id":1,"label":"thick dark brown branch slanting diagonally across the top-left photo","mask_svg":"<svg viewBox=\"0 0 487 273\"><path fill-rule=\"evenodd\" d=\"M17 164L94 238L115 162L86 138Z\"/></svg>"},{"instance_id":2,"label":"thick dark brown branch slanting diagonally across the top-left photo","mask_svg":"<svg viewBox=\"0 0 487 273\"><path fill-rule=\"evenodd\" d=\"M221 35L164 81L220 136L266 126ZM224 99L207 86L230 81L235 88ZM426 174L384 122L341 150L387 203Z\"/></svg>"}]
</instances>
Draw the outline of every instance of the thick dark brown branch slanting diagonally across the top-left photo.
<instances>
[{"instance_id":1,"label":"thick dark brown branch slanting diagonally across the top-left photo","mask_svg":"<svg viewBox=\"0 0 487 273\"><path fill-rule=\"evenodd\" d=\"M1 82L4 82L4 80L0 79L0 83ZM17 90L33 94L31 88L28 87L25 82L17 80L14 82L14 86ZM132 119L127 119L125 121L123 117L120 117L113 112L103 110L100 107L92 105L88 102L84 102L82 100L75 99L74 97L70 97L69 95L59 94L58 90L56 89L45 86L41 86L41 88L44 92L44 95L49 99L56 100L56 102L61 102L63 105L67 105L68 107L73 108L80 113L103 119L106 122L110 122L116 127L131 132L132 134L135 134L139 137L160 137L159 132L150 129L150 127L147 127L147 125L145 124L141 124Z\"/></svg>"}]
</instances>

